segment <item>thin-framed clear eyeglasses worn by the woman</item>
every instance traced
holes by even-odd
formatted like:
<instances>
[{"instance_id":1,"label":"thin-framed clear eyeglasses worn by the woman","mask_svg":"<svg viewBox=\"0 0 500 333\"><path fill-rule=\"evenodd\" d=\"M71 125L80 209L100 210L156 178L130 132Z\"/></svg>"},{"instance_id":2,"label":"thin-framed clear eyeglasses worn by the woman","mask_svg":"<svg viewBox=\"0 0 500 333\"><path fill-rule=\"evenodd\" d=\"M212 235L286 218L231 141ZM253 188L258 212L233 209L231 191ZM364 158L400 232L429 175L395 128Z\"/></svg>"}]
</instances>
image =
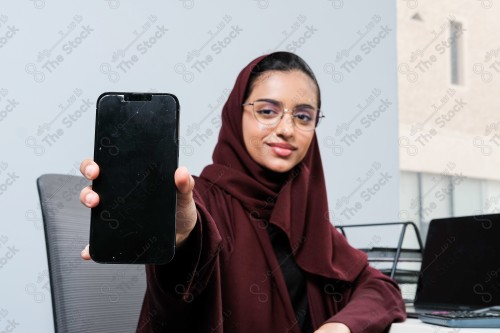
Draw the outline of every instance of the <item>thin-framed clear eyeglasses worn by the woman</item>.
<instances>
[{"instance_id":1,"label":"thin-framed clear eyeglasses worn by the woman","mask_svg":"<svg viewBox=\"0 0 500 333\"><path fill-rule=\"evenodd\" d=\"M313 131L321 118L325 116L319 109L310 105L297 105L292 110L284 109L283 104L273 100L260 100L252 103L243 103L243 106L253 107L255 119L266 126L276 126L283 119L286 112L291 112L292 120L298 129Z\"/></svg>"}]
</instances>

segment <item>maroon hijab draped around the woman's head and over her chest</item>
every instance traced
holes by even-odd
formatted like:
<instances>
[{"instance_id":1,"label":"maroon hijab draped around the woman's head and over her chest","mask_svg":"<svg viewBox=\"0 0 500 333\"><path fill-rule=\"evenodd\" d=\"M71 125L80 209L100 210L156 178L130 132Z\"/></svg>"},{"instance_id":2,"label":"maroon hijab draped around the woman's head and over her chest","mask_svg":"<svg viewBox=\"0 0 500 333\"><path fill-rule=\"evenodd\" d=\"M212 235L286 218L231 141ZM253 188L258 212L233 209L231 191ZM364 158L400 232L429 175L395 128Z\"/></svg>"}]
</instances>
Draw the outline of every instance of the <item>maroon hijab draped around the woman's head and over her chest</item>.
<instances>
[{"instance_id":1,"label":"maroon hijab draped around the woman's head and over her chest","mask_svg":"<svg viewBox=\"0 0 500 333\"><path fill-rule=\"evenodd\" d=\"M316 134L304 160L285 174L260 166L245 148L243 98L252 69L265 57L253 60L238 75L222 110L213 164L207 166L200 177L238 199L258 226L262 226L264 220L281 228L303 270L326 278L353 281L367 259L360 251L349 251L350 255L342 253L349 245L329 221ZM239 220L235 217L234 223Z\"/></svg>"}]
</instances>

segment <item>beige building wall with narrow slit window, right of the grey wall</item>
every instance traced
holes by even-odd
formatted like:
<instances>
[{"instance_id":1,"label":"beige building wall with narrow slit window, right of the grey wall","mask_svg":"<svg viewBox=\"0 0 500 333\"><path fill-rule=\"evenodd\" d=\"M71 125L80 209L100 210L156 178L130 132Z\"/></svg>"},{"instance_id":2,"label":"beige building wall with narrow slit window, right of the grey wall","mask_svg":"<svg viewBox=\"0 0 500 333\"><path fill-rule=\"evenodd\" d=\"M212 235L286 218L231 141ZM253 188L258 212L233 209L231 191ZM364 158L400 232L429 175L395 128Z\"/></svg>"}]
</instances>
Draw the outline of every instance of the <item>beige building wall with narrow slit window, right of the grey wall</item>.
<instances>
[{"instance_id":1,"label":"beige building wall with narrow slit window, right of the grey wall","mask_svg":"<svg viewBox=\"0 0 500 333\"><path fill-rule=\"evenodd\" d=\"M500 4L397 6L401 170L500 180ZM455 35L451 22L462 25Z\"/></svg>"}]
</instances>

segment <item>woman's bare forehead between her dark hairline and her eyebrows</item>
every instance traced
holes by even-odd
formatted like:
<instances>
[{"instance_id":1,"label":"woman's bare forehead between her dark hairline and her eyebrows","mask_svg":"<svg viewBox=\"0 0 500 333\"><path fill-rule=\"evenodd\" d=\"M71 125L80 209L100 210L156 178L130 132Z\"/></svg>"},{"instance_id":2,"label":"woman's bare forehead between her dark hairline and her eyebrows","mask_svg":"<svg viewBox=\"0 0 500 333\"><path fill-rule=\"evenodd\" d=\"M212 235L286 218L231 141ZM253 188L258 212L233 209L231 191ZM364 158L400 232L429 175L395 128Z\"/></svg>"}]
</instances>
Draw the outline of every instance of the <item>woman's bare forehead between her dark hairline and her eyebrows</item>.
<instances>
[{"instance_id":1,"label":"woman's bare forehead between her dark hairline and her eyebrows","mask_svg":"<svg viewBox=\"0 0 500 333\"><path fill-rule=\"evenodd\" d=\"M318 90L314 81L301 71L268 71L253 84L249 99L257 98L315 105L318 103Z\"/></svg>"}]
</instances>

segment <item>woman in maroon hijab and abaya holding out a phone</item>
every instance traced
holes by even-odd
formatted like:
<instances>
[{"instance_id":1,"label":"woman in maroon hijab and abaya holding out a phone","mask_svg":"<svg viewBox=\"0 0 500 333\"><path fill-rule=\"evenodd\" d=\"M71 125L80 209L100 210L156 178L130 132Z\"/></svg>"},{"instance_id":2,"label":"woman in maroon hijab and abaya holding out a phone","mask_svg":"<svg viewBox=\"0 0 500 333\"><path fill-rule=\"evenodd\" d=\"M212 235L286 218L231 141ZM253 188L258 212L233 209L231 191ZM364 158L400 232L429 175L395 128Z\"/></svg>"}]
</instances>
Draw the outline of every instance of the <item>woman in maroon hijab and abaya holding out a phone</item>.
<instances>
[{"instance_id":1,"label":"woman in maroon hijab and abaya holding out a phone","mask_svg":"<svg viewBox=\"0 0 500 333\"><path fill-rule=\"evenodd\" d=\"M178 252L146 267L139 332L382 332L404 320L397 284L328 220L320 106L314 74L292 53L241 71L213 164L199 178L175 174ZM90 160L81 171L99 174ZM81 201L99 197L85 188Z\"/></svg>"}]
</instances>

